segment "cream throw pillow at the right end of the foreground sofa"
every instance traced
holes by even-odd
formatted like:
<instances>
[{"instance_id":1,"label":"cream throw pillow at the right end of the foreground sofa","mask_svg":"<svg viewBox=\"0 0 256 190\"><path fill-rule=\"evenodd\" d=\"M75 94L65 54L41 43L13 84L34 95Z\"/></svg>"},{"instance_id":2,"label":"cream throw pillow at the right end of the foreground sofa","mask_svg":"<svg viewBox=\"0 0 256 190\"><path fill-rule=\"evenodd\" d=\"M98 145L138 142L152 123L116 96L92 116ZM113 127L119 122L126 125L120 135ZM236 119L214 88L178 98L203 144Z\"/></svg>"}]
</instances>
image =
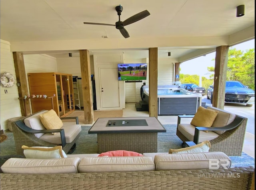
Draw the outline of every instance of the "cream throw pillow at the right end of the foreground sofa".
<instances>
[{"instance_id":1,"label":"cream throw pillow at the right end of the foreground sofa","mask_svg":"<svg viewBox=\"0 0 256 190\"><path fill-rule=\"evenodd\" d=\"M188 153L198 153L198 152L209 152L211 144L208 140L203 141L194 146L180 148L180 149L170 149L169 154L188 154Z\"/></svg>"}]
</instances>

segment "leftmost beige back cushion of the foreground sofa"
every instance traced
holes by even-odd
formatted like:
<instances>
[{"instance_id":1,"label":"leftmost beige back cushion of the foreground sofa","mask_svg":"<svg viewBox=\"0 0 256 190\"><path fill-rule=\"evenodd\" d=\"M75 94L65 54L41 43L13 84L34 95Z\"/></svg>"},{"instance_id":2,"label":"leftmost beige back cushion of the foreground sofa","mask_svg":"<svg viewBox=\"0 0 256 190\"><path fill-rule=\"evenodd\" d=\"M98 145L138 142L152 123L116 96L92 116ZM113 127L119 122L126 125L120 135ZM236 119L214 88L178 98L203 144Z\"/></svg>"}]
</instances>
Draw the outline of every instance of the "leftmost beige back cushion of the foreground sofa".
<instances>
[{"instance_id":1,"label":"leftmost beige back cushion of the foreground sofa","mask_svg":"<svg viewBox=\"0 0 256 190\"><path fill-rule=\"evenodd\" d=\"M10 158L1 167L6 174L78 173L80 158L27 159Z\"/></svg>"}]
</instances>

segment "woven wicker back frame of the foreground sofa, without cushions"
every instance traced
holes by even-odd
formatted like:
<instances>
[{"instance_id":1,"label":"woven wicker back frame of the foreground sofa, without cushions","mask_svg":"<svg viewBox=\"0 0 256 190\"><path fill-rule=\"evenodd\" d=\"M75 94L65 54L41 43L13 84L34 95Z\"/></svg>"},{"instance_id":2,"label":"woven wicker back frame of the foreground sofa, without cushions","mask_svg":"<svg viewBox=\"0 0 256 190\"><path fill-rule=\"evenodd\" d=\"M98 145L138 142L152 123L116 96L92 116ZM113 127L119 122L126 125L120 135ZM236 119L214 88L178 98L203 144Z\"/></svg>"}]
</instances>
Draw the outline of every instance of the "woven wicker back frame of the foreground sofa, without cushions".
<instances>
[{"instance_id":1,"label":"woven wicker back frame of the foreground sofa, without cushions","mask_svg":"<svg viewBox=\"0 0 256 190\"><path fill-rule=\"evenodd\" d=\"M226 170L166 170L147 172L99 172L76 174L0 174L1 190L250 190L254 167ZM253 188L254 189L254 188Z\"/></svg>"}]
</instances>

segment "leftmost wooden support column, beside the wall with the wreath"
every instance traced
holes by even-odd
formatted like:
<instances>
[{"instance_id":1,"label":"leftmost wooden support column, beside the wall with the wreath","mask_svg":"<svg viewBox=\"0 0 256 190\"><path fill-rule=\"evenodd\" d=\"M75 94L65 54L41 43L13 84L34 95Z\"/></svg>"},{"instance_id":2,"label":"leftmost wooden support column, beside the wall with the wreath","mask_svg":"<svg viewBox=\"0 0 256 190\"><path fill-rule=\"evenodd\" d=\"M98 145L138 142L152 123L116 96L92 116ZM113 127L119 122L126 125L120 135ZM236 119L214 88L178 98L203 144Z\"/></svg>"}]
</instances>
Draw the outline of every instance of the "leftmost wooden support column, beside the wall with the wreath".
<instances>
[{"instance_id":1,"label":"leftmost wooden support column, beside the wall with the wreath","mask_svg":"<svg viewBox=\"0 0 256 190\"><path fill-rule=\"evenodd\" d=\"M24 66L24 58L23 53L21 52L13 52L13 60L14 60L14 68L15 68L15 74L16 74L16 82L19 83L20 86L18 86L18 94L19 97L17 98L23 98L28 96L28 83L26 78L26 71ZM26 101L24 104L24 101L20 99L20 110L22 116L31 115L31 109L30 109L30 102Z\"/></svg>"}]
</instances>

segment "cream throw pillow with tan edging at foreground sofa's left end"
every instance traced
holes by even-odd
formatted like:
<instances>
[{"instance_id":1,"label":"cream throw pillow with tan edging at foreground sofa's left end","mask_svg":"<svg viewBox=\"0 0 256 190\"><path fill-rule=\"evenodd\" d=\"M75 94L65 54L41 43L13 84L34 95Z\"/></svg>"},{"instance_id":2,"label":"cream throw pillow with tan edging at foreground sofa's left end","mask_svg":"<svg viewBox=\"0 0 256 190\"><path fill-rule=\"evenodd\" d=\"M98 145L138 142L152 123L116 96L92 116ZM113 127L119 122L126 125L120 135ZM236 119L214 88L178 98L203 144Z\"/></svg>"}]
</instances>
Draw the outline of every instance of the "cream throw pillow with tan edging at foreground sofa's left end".
<instances>
[{"instance_id":1,"label":"cream throw pillow with tan edging at foreground sofa's left end","mask_svg":"<svg viewBox=\"0 0 256 190\"><path fill-rule=\"evenodd\" d=\"M23 145L21 147L26 158L33 159L52 159L52 158L67 158L68 156L62 150L62 146L46 147L46 146L32 146Z\"/></svg>"}]
</instances>

